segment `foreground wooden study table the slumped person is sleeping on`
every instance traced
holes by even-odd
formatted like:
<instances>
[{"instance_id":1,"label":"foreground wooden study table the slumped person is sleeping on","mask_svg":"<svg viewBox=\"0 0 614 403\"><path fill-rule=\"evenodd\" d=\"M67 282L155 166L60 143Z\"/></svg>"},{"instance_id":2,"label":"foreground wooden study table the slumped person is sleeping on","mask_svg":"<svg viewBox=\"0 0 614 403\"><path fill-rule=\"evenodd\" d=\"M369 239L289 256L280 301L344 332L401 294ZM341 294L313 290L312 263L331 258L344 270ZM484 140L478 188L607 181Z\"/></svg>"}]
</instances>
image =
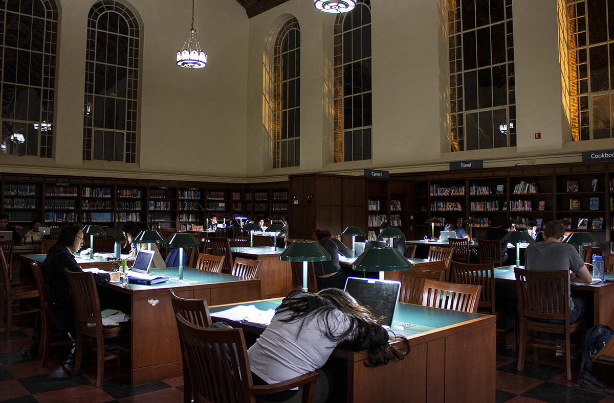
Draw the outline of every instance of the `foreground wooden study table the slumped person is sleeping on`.
<instances>
[{"instance_id":1,"label":"foreground wooden study table the slumped person is sleeping on","mask_svg":"<svg viewBox=\"0 0 614 403\"><path fill-rule=\"evenodd\" d=\"M249 304L266 310L275 309L279 303L281 299ZM209 310L214 316L232 306ZM398 303L392 326L415 325L413 331L393 327L410 341L410 353L403 360L370 368L364 365L367 353L335 348L326 366L346 379L348 403L494 402L495 319L492 315ZM246 331L264 331L258 326L224 321Z\"/></svg>"}]
</instances>

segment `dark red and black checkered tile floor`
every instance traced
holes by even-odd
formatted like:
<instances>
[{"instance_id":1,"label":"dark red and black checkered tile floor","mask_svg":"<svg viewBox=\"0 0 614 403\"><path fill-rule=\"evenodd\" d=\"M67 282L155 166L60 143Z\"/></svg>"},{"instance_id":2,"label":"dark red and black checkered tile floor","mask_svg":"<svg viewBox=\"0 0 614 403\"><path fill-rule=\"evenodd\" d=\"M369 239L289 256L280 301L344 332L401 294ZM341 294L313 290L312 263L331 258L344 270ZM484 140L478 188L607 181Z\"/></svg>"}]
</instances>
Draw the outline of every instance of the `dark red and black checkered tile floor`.
<instances>
[{"instance_id":1,"label":"dark red and black checkered tile floor","mask_svg":"<svg viewBox=\"0 0 614 403\"><path fill-rule=\"evenodd\" d=\"M18 323L10 334L0 333L0 402L182 402L183 379L166 379L146 385L131 386L127 367L107 362L104 385L96 387L96 366L84 355L82 374L72 376L73 364L57 356L49 358L48 367L32 356L22 356L19 348L31 344L33 323ZM497 391L495 402L531 403L614 403L613 396L575 388L580 367L573 362L573 381L567 381L565 363L553 353L540 355L532 362L527 352L524 371L516 371L518 355L497 345Z\"/></svg>"}]
</instances>

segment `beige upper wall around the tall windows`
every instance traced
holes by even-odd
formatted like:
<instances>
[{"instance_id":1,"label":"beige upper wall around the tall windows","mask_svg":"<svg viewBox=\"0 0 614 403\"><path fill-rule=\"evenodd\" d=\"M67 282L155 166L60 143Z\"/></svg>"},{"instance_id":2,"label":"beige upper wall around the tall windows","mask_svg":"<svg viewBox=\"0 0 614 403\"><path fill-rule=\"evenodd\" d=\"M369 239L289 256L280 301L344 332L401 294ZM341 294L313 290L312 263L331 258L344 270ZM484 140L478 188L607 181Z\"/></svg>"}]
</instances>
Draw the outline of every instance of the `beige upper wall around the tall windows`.
<instances>
[{"instance_id":1,"label":"beige upper wall around the tall windows","mask_svg":"<svg viewBox=\"0 0 614 403\"><path fill-rule=\"evenodd\" d=\"M285 180L291 173L447 169L577 162L614 142L570 141L564 0L515 0L518 146L449 152L446 2L373 1L373 159L332 162L332 33L335 15L289 0L248 19L235 0L196 1L195 28L208 66L180 69L174 55L190 24L189 0L133 0L142 23L139 164L82 161L86 18L93 1L63 0L55 159L0 156L3 171L207 181ZM279 28L301 29L301 166L272 169L270 68ZM561 63L562 61L562 63ZM562 66L562 67L561 67ZM542 138L535 140L535 132Z\"/></svg>"}]
</instances>

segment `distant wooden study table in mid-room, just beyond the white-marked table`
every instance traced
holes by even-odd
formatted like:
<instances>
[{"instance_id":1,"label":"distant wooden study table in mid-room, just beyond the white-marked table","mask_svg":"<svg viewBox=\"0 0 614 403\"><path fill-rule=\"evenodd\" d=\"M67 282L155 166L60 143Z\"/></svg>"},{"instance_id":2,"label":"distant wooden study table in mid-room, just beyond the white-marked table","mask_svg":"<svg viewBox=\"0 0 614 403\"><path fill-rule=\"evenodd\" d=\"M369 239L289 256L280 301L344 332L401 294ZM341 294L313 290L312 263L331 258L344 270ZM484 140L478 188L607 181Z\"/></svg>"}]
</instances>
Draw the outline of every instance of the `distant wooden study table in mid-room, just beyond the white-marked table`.
<instances>
[{"instance_id":1,"label":"distant wooden study table in mid-room, just beyond the white-marked table","mask_svg":"<svg viewBox=\"0 0 614 403\"><path fill-rule=\"evenodd\" d=\"M273 250L272 246L231 247L233 258L242 257L262 260L260 274L260 293L262 298L278 298L292 291L292 268L290 262L282 262L279 256L283 248Z\"/></svg>"}]
</instances>

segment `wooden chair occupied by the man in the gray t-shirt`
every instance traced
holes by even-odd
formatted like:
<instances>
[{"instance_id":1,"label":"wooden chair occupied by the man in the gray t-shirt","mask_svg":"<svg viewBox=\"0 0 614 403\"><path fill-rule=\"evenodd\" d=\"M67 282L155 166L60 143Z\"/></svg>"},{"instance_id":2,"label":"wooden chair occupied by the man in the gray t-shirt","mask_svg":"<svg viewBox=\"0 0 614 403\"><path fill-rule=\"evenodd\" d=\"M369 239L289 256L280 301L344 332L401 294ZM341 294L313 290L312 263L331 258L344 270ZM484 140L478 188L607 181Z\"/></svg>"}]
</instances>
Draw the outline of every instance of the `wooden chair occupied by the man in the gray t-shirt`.
<instances>
[{"instance_id":1,"label":"wooden chair occupied by the man in the gray t-shirt","mask_svg":"<svg viewBox=\"0 0 614 403\"><path fill-rule=\"evenodd\" d=\"M518 290L518 311L520 312L520 352L518 371L523 371L526 348L533 347L535 361L538 348L560 350L557 345L565 344L567 380L572 380L571 353L580 346L571 344L569 335L580 331L584 333L584 318L569 322L569 270L535 271L514 268L516 289ZM559 301L561 303L559 304ZM559 320L561 323L543 323L538 320ZM527 339L527 330L533 336ZM564 334L565 341L552 341L539 337L539 332Z\"/></svg>"}]
</instances>

